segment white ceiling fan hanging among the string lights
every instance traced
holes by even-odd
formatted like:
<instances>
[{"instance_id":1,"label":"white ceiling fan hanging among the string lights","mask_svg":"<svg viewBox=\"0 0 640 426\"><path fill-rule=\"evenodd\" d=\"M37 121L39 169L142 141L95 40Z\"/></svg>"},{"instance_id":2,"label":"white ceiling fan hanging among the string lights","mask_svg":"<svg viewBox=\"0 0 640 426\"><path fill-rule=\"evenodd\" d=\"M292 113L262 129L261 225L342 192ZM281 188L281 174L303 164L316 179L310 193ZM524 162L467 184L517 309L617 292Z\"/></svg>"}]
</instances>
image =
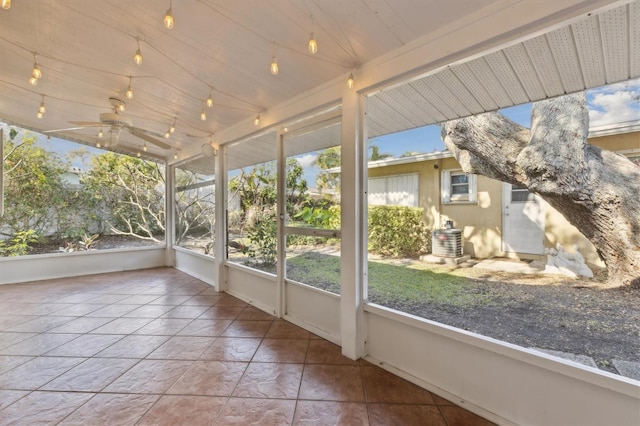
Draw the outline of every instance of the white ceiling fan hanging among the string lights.
<instances>
[{"instance_id":1,"label":"white ceiling fan hanging among the string lights","mask_svg":"<svg viewBox=\"0 0 640 426\"><path fill-rule=\"evenodd\" d=\"M124 101L121 101L118 98L109 98L109 102L113 107L113 112L103 112L100 114L100 121L70 121L70 124L75 124L78 127L69 127L66 129L55 129L55 130L46 130L43 133L55 133L55 132L63 132L70 130L80 130L85 127L108 127L109 128L109 139L106 141L106 147L114 147L118 144L118 137L120 136L120 131L125 129L133 136L138 137L142 140L145 140L149 143L156 145L162 149L171 149L171 145L166 142L163 142L159 139L154 138L148 134L147 130L140 129L138 127L133 126L133 122L130 118L124 117L120 115L119 111L124 110Z\"/></svg>"}]
</instances>

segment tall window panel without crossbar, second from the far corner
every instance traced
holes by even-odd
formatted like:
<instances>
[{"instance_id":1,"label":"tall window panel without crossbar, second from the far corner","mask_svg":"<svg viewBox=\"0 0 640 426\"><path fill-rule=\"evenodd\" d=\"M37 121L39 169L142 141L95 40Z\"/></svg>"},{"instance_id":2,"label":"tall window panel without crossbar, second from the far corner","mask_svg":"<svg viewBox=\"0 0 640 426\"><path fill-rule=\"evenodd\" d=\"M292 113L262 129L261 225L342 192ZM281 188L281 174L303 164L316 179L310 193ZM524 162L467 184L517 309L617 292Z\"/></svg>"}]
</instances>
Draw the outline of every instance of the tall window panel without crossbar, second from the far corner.
<instances>
[{"instance_id":1,"label":"tall window panel without crossbar, second from the far corner","mask_svg":"<svg viewBox=\"0 0 640 426\"><path fill-rule=\"evenodd\" d=\"M227 258L275 273L277 263L276 133L227 150Z\"/></svg>"}]
</instances>

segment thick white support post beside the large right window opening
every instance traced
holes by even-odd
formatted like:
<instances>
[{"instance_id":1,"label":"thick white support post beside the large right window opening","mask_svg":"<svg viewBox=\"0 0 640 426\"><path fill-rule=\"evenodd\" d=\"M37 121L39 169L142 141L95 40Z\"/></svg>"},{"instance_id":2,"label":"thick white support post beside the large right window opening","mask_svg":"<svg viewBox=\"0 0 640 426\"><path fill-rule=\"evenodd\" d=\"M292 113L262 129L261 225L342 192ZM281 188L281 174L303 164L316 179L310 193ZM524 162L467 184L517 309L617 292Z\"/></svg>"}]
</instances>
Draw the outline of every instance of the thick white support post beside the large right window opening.
<instances>
[{"instance_id":1,"label":"thick white support post beside the large right window opening","mask_svg":"<svg viewBox=\"0 0 640 426\"><path fill-rule=\"evenodd\" d=\"M340 337L342 354L358 359L365 353L363 249L362 120L360 95L346 89L342 98Z\"/></svg>"}]
</instances>

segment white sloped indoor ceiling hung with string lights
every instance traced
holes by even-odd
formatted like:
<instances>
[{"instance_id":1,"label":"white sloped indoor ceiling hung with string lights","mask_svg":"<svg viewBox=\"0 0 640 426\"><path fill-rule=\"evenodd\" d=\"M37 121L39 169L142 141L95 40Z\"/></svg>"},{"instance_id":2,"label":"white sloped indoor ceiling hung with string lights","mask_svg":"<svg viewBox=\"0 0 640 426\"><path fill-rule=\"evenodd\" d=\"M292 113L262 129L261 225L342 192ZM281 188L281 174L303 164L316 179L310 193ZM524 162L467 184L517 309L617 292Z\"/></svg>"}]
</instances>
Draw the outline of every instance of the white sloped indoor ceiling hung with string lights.
<instances>
[{"instance_id":1,"label":"white sloped indoor ceiling hung with string lights","mask_svg":"<svg viewBox=\"0 0 640 426\"><path fill-rule=\"evenodd\" d=\"M171 150L343 76L496 0L13 0L0 9L0 119L36 130L99 121L110 97L133 126L160 138L176 120ZM434 13L437 11L437 13ZM313 17L313 18L312 18ZM314 32L319 49L307 51ZM141 65L133 61L138 48ZM43 77L33 87L34 56ZM276 56L280 73L271 75ZM134 98L127 100L129 85ZM211 92L214 106L204 107ZM38 106L46 105L42 119ZM205 109L207 120L200 120ZM94 144L99 129L54 135ZM120 147L142 140L123 132Z\"/></svg>"}]
</instances>

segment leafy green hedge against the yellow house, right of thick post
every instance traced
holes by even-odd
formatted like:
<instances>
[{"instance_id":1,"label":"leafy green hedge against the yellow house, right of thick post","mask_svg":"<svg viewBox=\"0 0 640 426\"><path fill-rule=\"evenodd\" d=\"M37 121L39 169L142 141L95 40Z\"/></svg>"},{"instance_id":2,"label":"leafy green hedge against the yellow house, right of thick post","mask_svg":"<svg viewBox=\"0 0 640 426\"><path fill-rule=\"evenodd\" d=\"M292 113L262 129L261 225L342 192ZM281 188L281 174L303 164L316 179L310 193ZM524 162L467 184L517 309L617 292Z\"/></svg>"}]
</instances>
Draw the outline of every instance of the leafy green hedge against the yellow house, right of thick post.
<instances>
[{"instance_id":1,"label":"leafy green hedge against the yellow house, right of thick post","mask_svg":"<svg viewBox=\"0 0 640 426\"><path fill-rule=\"evenodd\" d=\"M426 253L429 230L422 208L369 207L369 251L392 257L417 257Z\"/></svg>"}]
</instances>

